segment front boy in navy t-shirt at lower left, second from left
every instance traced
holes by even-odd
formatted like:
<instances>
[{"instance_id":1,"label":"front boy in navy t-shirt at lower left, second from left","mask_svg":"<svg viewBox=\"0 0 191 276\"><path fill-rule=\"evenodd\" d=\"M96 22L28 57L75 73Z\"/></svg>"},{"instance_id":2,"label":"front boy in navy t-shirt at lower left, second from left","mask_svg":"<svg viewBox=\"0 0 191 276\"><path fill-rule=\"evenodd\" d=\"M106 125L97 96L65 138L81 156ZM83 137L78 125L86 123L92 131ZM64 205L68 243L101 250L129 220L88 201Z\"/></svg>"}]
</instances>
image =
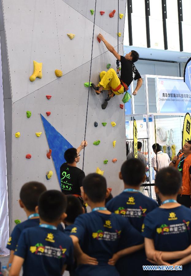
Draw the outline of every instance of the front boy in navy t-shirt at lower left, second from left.
<instances>
[{"instance_id":1,"label":"front boy in navy t-shirt at lower left, second from left","mask_svg":"<svg viewBox=\"0 0 191 276\"><path fill-rule=\"evenodd\" d=\"M73 263L73 243L69 236L57 230L58 224L66 217L66 196L59 191L44 192L36 207L40 225L25 229L19 238L10 276L63 274L66 265Z\"/></svg>"}]
</instances>

